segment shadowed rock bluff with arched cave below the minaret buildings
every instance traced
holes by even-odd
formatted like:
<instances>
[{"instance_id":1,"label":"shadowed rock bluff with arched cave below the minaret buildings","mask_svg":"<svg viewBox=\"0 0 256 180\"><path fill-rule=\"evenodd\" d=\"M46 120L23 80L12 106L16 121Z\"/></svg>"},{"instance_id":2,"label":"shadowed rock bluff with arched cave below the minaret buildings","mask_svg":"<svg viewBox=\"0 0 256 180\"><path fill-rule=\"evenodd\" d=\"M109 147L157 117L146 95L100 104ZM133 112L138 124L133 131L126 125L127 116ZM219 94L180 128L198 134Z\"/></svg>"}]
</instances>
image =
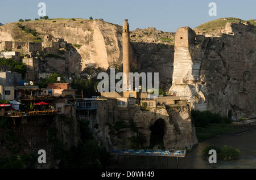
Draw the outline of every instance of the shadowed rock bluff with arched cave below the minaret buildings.
<instances>
[{"instance_id":1,"label":"shadowed rock bluff with arched cave below the minaret buildings","mask_svg":"<svg viewBox=\"0 0 256 180\"><path fill-rule=\"evenodd\" d=\"M162 134L160 139L166 149L191 149L197 144L189 105L141 110L136 105L117 108L116 100L101 100L96 121L90 127L106 149L148 148L152 144L158 148L161 144L151 139L157 134Z\"/></svg>"}]
</instances>

